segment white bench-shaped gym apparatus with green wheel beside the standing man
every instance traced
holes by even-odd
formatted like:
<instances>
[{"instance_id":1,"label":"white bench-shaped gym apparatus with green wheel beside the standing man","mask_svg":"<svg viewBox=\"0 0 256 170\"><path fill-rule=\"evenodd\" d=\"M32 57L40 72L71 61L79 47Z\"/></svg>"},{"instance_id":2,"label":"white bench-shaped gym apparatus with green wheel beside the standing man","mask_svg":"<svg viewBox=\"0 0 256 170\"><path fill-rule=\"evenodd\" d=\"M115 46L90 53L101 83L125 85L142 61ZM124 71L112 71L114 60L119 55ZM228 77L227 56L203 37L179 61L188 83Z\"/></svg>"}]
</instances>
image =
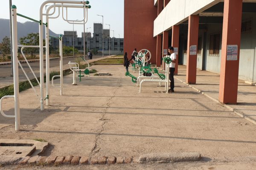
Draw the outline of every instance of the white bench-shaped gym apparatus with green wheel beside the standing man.
<instances>
[{"instance_id":1,"label":"white bench-shaped gym apparatus with green wheel beside the standing man","mask_svg":"<svg viewBox=\"0 0 256 170\"><path fill-rule=\"evenodd\" d=\"M166 57L166 59L164 60L164 62L166 63L166 68L169 68L170 63L172 62L170 57ZM140 82L140 92L141 92L141 87L143 82L164 82L165 83L165 91L166 93L168 93L168 83L169 83L169 69L166 69L166 76L165 79L143 79Z\"/></svg>"}]
</instances>

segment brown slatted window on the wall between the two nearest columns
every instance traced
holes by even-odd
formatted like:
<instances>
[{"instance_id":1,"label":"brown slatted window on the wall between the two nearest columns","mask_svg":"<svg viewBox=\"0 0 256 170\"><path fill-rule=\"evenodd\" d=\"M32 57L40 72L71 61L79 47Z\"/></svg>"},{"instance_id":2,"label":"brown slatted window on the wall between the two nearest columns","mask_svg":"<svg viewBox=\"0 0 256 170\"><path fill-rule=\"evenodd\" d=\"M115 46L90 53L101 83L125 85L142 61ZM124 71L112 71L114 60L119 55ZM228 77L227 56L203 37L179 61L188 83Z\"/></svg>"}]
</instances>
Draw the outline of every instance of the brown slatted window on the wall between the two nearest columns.
<instances>
[{"instance_id":1,"label":"brown slatted window on the wall between the two nearest columns","mask_svg":"<svg viewBox=\"0 0 256 170\"><path fill-rule=\"evenodd\" d=\"M209 37L209 54L218 55L220 52L220 37L221 34L212 34Z\"/></svg>"}]
</instances>

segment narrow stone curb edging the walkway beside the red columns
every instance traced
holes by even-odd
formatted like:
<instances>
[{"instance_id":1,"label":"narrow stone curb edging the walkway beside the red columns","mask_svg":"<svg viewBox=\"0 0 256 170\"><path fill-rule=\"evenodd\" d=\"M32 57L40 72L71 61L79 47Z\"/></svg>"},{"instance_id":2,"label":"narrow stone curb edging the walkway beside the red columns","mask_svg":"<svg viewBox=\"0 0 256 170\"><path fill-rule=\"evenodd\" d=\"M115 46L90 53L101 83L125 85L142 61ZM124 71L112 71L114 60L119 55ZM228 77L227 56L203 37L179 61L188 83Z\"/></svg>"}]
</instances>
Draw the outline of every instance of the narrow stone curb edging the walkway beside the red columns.
<instances>
[{"instance_id":1,"label":"narrow stone curb edging the walkway beside the red columns","mask_svg":"<svg viewBox=\"0 0 256 170\"><path fill-rule=\"evenodd\" d=\"M190 88L194 89L195 91L198 91L198 93L201 93L203 94L204 96L207 96L209 99L211 99L212 101L224 106L225 108L229 109L230 111L233 111L234 113L236 113L238 116L240 116L241 118L244 118L246 120L248 120L249 122L253 123L256 125L256 120L255 119L252 119L250 118L249 116L247 116L246 114L244 114L242 111L238 111L237 109L234 109L232 107L230 107L229 105L226 105L224 103L221 103L220 101L218 101L217 99L214 99L213 97L209 96L208 94L202 92L201 90L199 90L198 88L195 88L194 86L192 85L189 85L188 83L184 82L183 80L177 78L177 77L174 77L175 79L179 80L180 82L183 82L185 85L189 86Z\"/></svg>"}]
</instances>

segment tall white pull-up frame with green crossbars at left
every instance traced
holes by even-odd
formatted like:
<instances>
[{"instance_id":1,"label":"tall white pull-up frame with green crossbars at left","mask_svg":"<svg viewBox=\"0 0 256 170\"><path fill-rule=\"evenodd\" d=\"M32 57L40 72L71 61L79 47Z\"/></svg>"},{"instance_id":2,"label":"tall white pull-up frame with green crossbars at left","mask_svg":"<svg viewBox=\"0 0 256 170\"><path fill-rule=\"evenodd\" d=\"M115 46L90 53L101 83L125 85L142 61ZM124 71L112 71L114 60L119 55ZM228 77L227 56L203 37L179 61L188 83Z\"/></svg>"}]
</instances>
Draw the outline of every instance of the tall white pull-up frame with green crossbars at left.
<instances>
[{"instance_id":1,"label":"tall white pull-up frame with green crossbars at left","mask_svg":"<svg viewBox=\"0 0 256 170\"><path fill-rule=\"evenodd\" d=\"M43 9L44 6L47 3L53 3L52 7L54 7L54 11L49 14L49 10L46 14L43 14ZM81 6L73 6L70 4L81 4ZM15 118L15 130L20 130L20 101L19 101L19 74L18 74L18 59L17 59L17 16L20 17L24 17L26 19L32 20L34 22L39 23L39 46L27 46L30 48L39 48L40 50L40 93L41 93L41 97L40 97L40 102L41 102L41 111L44 110L44 100L47 99L47 101L49 101L49 20L48 20L48 16L53 15L55 13L55 8L56 6L61 7L62 8L62 17L64 19L64 12L63 12L63 8L66 8L66 20L68 23L70 22L76 22L75 24L85 24L87 22L87 9L90 8L90 6L88 6L87 4L89 4L89 1L79 1L79 0L47 0L44 3L41 4L40 7L40 19L39 20L35 20L32 19L30 17L24 16L22 14L18 14L17 13L17 7L15 5L12 6L12 53L13 53L13 81L14 81L14 95L13 96L3 96L0 99L0 113L5 116L5 117L9 117L9 118ZM76 20L67 20L67 8L84 8L84 19L82 20L83 23L77 23ZM60 10L59 10L60 13ZM46 20L47 22L44 23L43 22L43 15L46 15ZM58 16L57 16L58 17ZM57 18L57 17L52 17L52 18ZM73 24L73 23L72 23ZM44 56L43 56L43 26L46 26L46 72L47 72L47 95L46 97L44 97ZM26 59L25 59L26 60ZM30 67L30 66L29 66ZM23 68L22 68L23 69ZM31 69L31 67L30 67ZM24 69L23 69L24 70ZM62 73L62 71L61 71ZM26 74L25 74L26 75ZM27 77L27 75L26 75ZM27 77L28 78L28 77ZM37 80L38 81L38 80ZM31 82L29 82L30 84L32 84ZM32 87L33 88L33 87ZM33 88L33 90L35 91L35 89ZM37 95L38 96L38 95ZM3 112L3 99L6 98L14 98L15 101L15 116L10 116L10 115L6 115ZM39 96L38 96L39 98ZM49 102L47 102L47 104L49 104Z\"/></svg>"}]
</instances>

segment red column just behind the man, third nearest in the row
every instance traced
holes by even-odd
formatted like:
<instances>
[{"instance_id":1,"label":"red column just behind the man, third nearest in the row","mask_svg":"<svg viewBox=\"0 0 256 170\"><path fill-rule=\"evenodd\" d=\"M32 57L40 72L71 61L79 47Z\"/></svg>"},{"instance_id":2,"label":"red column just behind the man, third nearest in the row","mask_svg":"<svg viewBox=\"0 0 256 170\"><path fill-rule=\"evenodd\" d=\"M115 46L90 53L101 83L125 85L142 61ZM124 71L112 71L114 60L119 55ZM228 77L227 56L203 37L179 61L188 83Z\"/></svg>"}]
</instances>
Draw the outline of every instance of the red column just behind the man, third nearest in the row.
<instances>
[{"instance_id":1,"label":"red column just behind the man, third nearest in the row","mask_svg":"<svg viewBox=\"0 0 256 170\"><path fill-rule=\"evenodd\" d=\"M173 48L178 48L179 49L179 38L180 38L180 26L172 26L172 47ZM174 74L178 74L178 62L179 62L179 57L178 53L176 54L176 64L175 64L175 72Z\"/></svg>"}]
</instances>

